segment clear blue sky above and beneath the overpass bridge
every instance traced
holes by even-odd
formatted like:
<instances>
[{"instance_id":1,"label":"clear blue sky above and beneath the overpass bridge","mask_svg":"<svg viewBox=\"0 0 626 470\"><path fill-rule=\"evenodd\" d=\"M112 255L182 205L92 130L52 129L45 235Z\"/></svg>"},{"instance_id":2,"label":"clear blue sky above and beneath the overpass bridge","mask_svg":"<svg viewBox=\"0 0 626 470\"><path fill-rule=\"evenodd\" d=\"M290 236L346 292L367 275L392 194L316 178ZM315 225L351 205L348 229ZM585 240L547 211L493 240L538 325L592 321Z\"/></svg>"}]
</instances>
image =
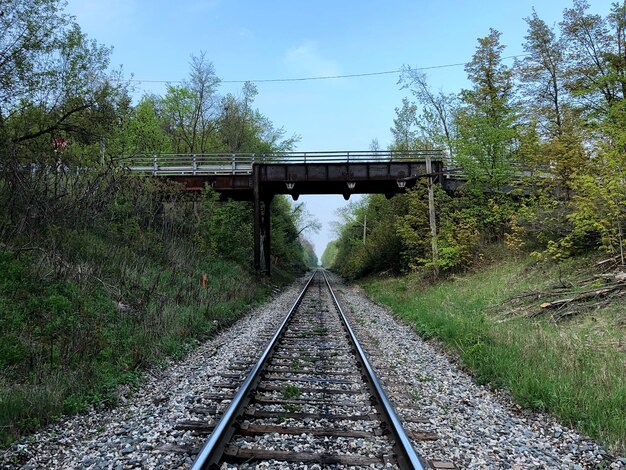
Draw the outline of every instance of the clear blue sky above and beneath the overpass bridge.
<instances>
[{"instance_id":1,"label":"clear blue sky above and beneath the overpass bridge","mask_svg":"<svg viewBox=\"0 0 626 470\"><path fill-rule=\"evenodd\" d=\"M590 0L606 15L611 0ZM533 8L549 25L571 0L68 0L83 31L112 46L111 65L132 75L135 97L163 94L167 81L187 78L191 55L205 52L230 81L328 77L425 68L434 90L457 93L469 84L463 68L477 40L494 28L504 56L523 54ZM512 64L513 59L506 59ZM442 67L446 66L446 67ZM256 107L287 135L295 150L366 150L391 142L394 109L407 90L399 74L328 80L257 82ZM351 200L354 200L352 198ZM321 256L336 238L330 222L342 196L301 196L322 223L309 234Z\"/></svg>"}]
</instances>

